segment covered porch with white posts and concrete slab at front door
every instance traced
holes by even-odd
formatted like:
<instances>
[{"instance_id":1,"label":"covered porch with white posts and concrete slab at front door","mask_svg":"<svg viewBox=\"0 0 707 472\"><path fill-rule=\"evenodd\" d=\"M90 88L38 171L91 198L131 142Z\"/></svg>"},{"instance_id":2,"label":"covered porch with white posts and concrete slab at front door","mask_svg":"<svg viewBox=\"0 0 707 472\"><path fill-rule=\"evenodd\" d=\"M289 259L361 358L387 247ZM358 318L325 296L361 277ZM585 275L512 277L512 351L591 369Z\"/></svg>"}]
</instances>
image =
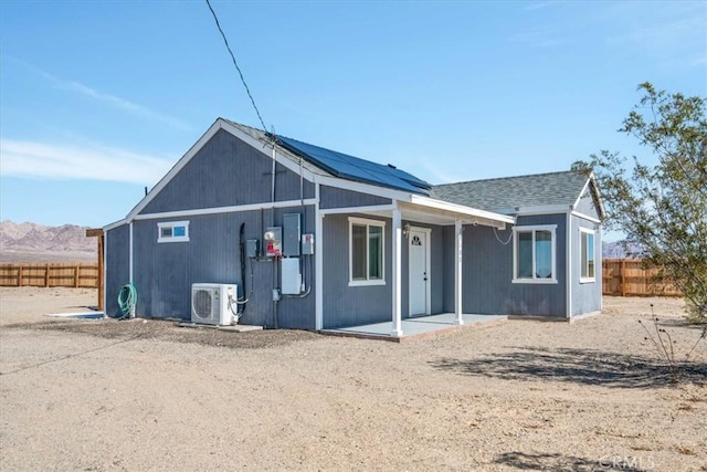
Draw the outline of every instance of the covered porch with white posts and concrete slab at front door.
<instances>
[{"instance_id":1,"label":"covered porch with white posts and concrete slab at front door","mask_svg":"<svg viewBox=\"0 0 707 472\"><path fill-rule=\"evenodd\" d=\"M366 207L348 207L333 208L320 210L320 217L326 218L327 214L361 214L377 218L388 219L390 231L386 230L386 239L390 242L390 251L387 250L386 258L390 258L390 273L386 274L386 285L390 290L391 311L390 318L386 322L362 324L352 327L336 327L323 329L323 315L317 316L317 329L323 333L340 334L340 335L359 335L362 337L384 337L390 339L402 339L446 331L454 327L478 324L487 321L496 321L503 317L494 317L488 315L474 315L463 313L463 232L465 225L484 225L488 228L504 230L507 224L514 224L515 219L510 216L494 213L475 208L464 207L460 204L449 203L430 197L418 195L407 195L405 198L392 199L389 204L376 204ZM354 219L349 217L349 219ZM404 223L403 223L404 222ZM436 308L430 308L430 284L428 282L430 270L430 250L426 252L426 265L421 263L423 270L419 271L424 283L415 287L412 286L415 270L419 269L412 262L412 253L416 234L420 240L425 243L425 225L436 228L446 227L454 228L453 242L446 237L445 251L452 253L453 258L447 255L444 270L444 285L453 284L453 303L447 295L445 306L437 305ZM390 235L389 235L390 234ZM449 233L447 233L449 234ZM429 232L428 232L429 244ZM453 245L453 249L452 249ZM428 245L429 248L429 245ZM403 249L410 251L403 258ZM424 255L420 255L424 259ZM453 262L452 262L453 259ZM403 263L404 261L404 263ZM452 268L453 264L453 268ZM453 271L450 271L453 269ZM453 272L453 275L452 275ZM433 276L440 276L439 272ZM440 280L437 279L437 287ZM403 284L404 291L403 291ZM320 285L321 286L321 285ZM425 291L426 310L414 310L413 296L420 291ZM449 290L449 289L447 289ZM404 297L407 292L408 297ZM450 293L450 292L447 292ZM451 295L451 293L450 293ZM424 297L423 297L424 298ZM435 298L439 300L439 298ZM424 301L421 306L424 306ZM442 308L442 310L440 310ZM403 311L405 312L403 315ZM442 313L441 313L442 312ZM346 325L345 325L346 326Z\"/></svg>"}]
</instances>

